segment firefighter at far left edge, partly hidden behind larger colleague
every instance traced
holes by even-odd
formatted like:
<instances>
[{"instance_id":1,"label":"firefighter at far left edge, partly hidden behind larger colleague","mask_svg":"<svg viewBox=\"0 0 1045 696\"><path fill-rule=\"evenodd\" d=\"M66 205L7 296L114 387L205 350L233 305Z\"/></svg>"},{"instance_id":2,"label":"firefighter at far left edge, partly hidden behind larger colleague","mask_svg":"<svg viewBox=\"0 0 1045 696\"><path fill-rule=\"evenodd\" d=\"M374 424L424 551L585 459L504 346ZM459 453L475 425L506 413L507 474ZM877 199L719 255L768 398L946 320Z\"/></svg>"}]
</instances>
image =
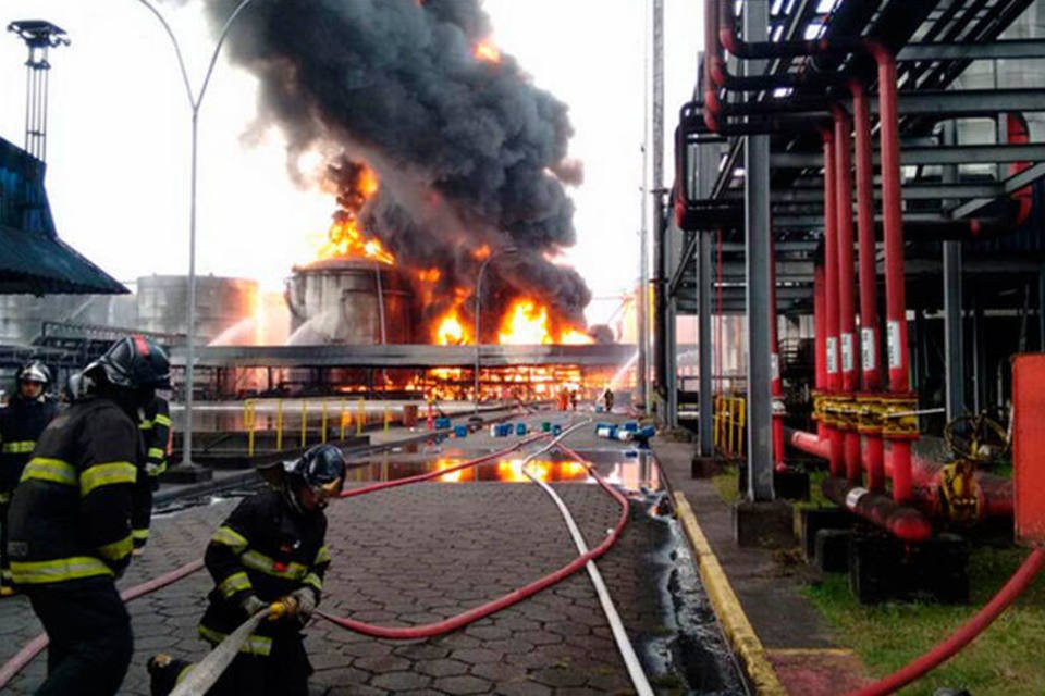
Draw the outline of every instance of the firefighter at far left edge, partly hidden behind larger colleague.
<instances>
[{"instance_id":1,"label":"firefighter at far left edge, partly hidden behind larger colleague","mask_svg":"<svg viewBox=\"0 0 1045 696\"><path fill-rule=\"evenodd\" d=\"M41 362L30 362L16 377L17 387L8 407L0 409L0 597L14 594L8 563L8 507L11 494L29 461L36 439L58 412L47 395L51 373Z\"/></svg>"}]
</instances>

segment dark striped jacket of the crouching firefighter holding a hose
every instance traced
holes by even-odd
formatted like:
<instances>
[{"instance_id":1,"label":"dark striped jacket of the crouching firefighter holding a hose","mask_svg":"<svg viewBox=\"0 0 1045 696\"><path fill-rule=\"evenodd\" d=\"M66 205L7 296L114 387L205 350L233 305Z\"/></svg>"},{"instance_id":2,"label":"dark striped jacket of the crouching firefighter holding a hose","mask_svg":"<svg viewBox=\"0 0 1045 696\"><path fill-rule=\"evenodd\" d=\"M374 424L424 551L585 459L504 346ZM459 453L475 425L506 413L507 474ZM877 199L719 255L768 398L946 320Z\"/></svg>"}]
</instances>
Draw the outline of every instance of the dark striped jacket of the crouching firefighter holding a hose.
<instances>
[{"instance_id":1,"label":"dark striped jacket of the crouching firefighter holding a hose","mask_svg":"<svg viewBox=\"0 0 1045 696\"><path fill-rule=\"evenodd\" d=\"M278 490L244 499L207 546L204 560L216 586L199 623L200 635L220 643L247 619L241 604L251 594L271 602L308 587L318 605L330 564L325 536L321 510L292 511ZM300 641L299 627L286 620L262 621L241 651L268 656L273 639Z\"/></svg>"}]
</instances>

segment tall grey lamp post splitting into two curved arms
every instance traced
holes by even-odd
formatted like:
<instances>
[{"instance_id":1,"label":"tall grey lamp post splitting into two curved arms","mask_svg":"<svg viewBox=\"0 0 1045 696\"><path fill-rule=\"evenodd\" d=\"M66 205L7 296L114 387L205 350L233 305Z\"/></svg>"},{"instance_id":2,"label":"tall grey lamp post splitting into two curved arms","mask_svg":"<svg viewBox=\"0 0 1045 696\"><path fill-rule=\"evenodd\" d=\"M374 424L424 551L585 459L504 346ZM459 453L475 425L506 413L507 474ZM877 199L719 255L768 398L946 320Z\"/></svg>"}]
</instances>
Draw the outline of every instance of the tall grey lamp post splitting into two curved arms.
<instances>
[{"instance_id":1,"label":"tall grey lamp post splitting into two curved arms","mask_svg":"<svg viewBox=\"0 0 1045 696\"><path fill-rule=\"evenodd\" d=\"M177 44L177 37L171 30L171 25L167 23L159 10L149 4L148 0L138 0L146 9L151 12L163 30L171 39L174 46L174 55L177 57L177 66L182 72L182 82L185 84L185 96L188 97L188 107L193 113L193 157L192 174L189 186L189 208L188 208L188 327L186 336L186 356L185 356L185 437L182 439L182 467L190 471L193 467L193 388L194 371L196 362L196 153L199 133L199 107L204 102L204 96L207 94L207 85L210 84L210 76L214 72L214 64L218 62L218 54L225 42L229 29L235 22L239 13L254 0L243 0L221 27L221 34L218 36L218 44L214 45L214 51L210 57L210 63L207 65L207 73L204 75L204 82L199 87L199 94L193 95L193 86L188 82L188 71L185 70L185 60L182 57L182 48Z\"/></svg>"}]
</instances>

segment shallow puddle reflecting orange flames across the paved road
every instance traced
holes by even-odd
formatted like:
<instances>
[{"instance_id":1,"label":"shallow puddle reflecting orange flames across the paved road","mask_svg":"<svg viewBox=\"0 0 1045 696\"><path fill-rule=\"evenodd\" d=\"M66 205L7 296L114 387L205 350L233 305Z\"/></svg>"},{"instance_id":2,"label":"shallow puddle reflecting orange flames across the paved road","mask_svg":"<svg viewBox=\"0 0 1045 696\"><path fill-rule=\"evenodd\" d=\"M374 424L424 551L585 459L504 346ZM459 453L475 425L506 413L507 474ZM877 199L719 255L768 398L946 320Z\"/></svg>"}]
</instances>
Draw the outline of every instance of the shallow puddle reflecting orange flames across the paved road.
<instances>
[{"instance_id":1,"label":"shallow puddle reflecting orange flames across the paved road","mask_svg":"<svg viewBox=\"0 0 1045 696\"><path fill-rule=\"evenodd\" d=\"M660 471L653 457L646 452L620 459L619 452L582 452L590 457L599 473L610 483L628 490L657 490L661 488ZM472 457L475 455L471 455ZM522 456L504 458L458 471L452 471L432 481L439 483L529 483L522 472ZM418 474L452 469L468 460L464 455L442 457L406 458L398 453L370 458L349 464L348 483L376 483L397 481ZM538 480L545 483L595 483L588 468L575 459L549 456L530 460L527 467Z\"/></svg>"}]
</instances>

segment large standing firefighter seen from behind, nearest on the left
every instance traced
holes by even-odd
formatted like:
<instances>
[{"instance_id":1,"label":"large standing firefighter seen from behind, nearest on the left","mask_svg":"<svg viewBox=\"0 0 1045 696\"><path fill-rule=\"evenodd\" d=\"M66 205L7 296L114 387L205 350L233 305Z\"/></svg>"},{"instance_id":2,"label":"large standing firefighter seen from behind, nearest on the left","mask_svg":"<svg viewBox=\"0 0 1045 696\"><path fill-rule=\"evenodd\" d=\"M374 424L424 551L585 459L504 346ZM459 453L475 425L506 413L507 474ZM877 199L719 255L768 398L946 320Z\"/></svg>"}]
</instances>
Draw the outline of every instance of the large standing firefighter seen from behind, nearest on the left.
<instances>
[{"instance_id":1,"label":"large standing firefighter seen from behind, nearest on the left","mask_svg":"<svg viewBox=\"0 0 1045 696\"><path fill-rule=\"evenodd\" d=\"M11 500L8 551L50 639L36 694L115 694L133 652L115 580L131 561L138 409L170 388L167 353L143 336L84 369L81 393L40 435Z\"/></svg>"}]
</instances>

